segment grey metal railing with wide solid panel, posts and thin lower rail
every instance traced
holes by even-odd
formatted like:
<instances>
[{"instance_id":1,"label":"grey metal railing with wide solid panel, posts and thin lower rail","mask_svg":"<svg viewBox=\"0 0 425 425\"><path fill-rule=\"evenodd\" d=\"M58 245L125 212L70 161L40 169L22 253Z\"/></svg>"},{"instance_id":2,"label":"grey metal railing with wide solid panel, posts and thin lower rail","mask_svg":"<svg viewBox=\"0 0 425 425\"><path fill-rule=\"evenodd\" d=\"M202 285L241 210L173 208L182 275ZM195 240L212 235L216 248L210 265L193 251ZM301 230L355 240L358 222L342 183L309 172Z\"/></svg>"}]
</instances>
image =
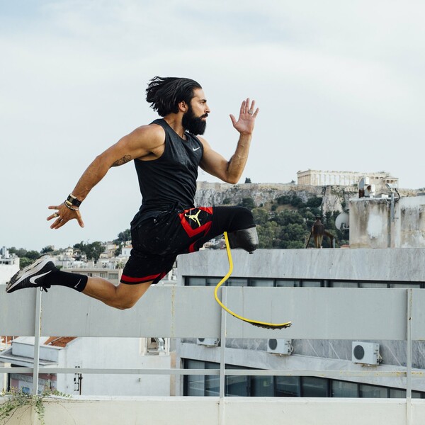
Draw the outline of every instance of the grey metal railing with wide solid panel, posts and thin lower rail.
<instances>
[{"instance_id":1,"label":"grey metal railing with wide solid panel, posts and thin lower rail","mask_svg":"<svg viewBox=\"0 0 425 425\"><path fill-rule=\"evenodd\" d=\"M74 368L41 367L40 336L161 335L170 338L220 338L220 369L104 369L80 368L79 373L220 375L225 397L226 375L310 375L333 378L356 376L404 377L407 398L412 378L412 341L425 339L425 291L416 289L353 288L222 288L222 300L247 317L279 322L290 329L253 327L225 313L214 300L214 288L154 286L131 310L114 310L97 300L52 288L48 294L22 290L0 292L0 335L35 336L33 368L0 368L0 373L75 373ZM188 308L191 306L191 308ZM407 341L407 367L371 370L232 370L225 368L227 338L363 339ZM36 390L36 385L34 385Z\"/></svg>"}]
</instances>

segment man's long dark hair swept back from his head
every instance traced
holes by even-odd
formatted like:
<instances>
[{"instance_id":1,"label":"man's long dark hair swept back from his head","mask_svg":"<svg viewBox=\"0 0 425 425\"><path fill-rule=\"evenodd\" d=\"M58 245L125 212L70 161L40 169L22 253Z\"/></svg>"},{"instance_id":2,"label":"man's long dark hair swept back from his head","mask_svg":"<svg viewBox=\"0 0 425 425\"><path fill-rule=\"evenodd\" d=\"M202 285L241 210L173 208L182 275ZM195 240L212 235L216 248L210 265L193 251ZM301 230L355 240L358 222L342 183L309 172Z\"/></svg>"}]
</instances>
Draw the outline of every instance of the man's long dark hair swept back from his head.
<instances>
[{"instance_id":1,"label":"man's long dark hair swept back from his head","mask_svg":"<svg viewBox=\"0 0 425 425\"><path fill-rule=\"evenodd\" d=\"M193 79L154 77L147 85L146 100L154 111L164 117L169 113L178 113L181 101L190 105L195 89L202 87Z\"/></svg>"}]
</instances>

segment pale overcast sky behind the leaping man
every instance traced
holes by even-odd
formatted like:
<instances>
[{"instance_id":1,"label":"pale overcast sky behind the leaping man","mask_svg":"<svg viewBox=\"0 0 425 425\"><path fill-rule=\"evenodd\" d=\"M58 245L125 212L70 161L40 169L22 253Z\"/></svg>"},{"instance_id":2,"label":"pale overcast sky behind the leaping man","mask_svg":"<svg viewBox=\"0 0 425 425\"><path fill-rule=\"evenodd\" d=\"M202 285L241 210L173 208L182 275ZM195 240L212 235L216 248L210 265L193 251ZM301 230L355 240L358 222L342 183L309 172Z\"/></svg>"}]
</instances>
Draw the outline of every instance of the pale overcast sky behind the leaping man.
<instances>
[{"instance_id":1,"label":"pale overcast sky behind the leaping man","mask_svg":"<svg viewBox=\"0 0 425 425\"><path fill-rule=\"evenodd\" d=\"M0 0L0 246L114 239L141 197L132 163L84 201L86 227L51 230L86 166L156 115L147 81L190 77L225 157L229 113L261 109L244 177L389 171L425 186L423 1ZM200 181L217 179L200 172Z\"/></svg>"}]
</instances>

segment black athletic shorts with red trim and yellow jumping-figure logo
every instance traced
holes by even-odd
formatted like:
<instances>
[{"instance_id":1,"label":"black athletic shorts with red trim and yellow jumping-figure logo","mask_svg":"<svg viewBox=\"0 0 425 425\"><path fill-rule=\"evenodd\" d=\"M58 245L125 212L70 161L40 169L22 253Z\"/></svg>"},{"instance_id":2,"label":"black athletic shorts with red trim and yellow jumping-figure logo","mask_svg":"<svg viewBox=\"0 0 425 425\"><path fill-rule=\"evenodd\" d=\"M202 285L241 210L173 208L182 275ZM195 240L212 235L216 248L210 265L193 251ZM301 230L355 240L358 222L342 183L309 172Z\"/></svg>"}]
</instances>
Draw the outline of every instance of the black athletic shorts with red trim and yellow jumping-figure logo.
<instances>
[{"instance_id":1,"label":"black athletic shorts with red trim and yellow jumping-figure logo","mask_svg":"<svg viewBox=\"0 0 425 425\"><path fill-rule=\"evenodd\" d=\"M173 268L179 254L198 251L223 232L254 226L251 211L243 207L149 211L132 225L132 250L121 282L157 283Z\"/></svg>"}]
</instances>

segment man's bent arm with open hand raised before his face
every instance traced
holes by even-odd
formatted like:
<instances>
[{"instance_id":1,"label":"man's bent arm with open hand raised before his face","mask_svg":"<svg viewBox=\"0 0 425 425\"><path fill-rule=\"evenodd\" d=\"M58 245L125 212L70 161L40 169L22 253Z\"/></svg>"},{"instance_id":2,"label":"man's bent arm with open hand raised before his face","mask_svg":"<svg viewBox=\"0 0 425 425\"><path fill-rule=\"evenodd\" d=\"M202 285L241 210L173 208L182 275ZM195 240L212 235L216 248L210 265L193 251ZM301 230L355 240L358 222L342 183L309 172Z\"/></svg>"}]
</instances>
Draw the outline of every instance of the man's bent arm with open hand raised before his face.
<instances>
[{"instance_id":1,"label":"man's bent arm with open hand raised before his face","mask_svg":"<svg viewBox=\"0 0 425 425\"><path fill-rule=\"evenodd\" d=\"M247 98L246 101L242 102L239 118L236 119L233 115L230 115L233 127L239 132L239 140L236 151L229 161L212 150L205 139L199 137L204 149L200 168L226 183L235 184L239 181L248 160L255 119L259 113L259 108L256 108L256 110L254 108L255 101L250 102Z\"/></svg>"}]
</instances>

